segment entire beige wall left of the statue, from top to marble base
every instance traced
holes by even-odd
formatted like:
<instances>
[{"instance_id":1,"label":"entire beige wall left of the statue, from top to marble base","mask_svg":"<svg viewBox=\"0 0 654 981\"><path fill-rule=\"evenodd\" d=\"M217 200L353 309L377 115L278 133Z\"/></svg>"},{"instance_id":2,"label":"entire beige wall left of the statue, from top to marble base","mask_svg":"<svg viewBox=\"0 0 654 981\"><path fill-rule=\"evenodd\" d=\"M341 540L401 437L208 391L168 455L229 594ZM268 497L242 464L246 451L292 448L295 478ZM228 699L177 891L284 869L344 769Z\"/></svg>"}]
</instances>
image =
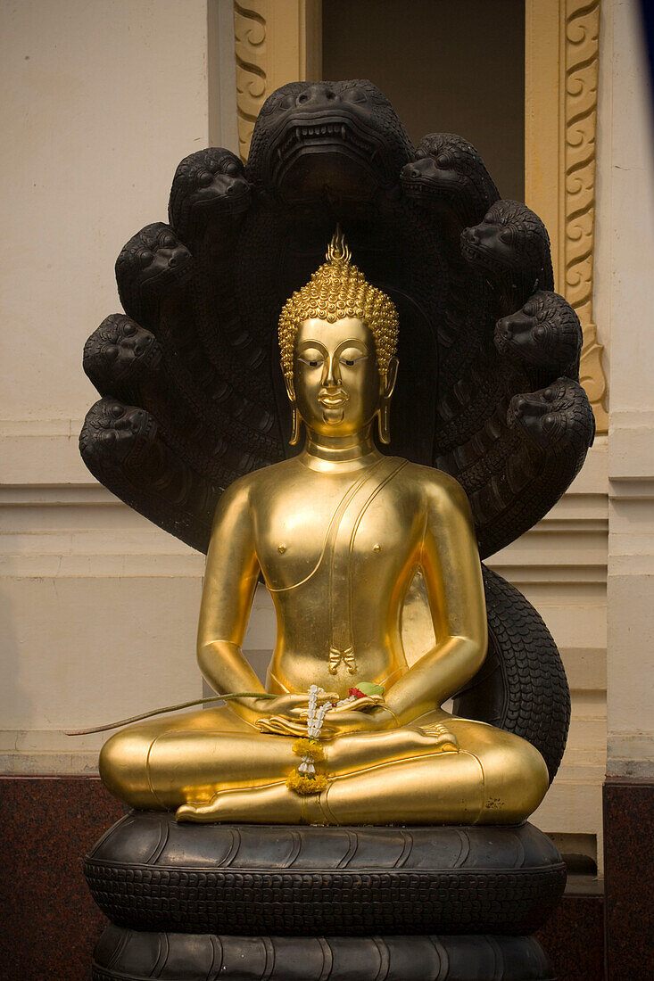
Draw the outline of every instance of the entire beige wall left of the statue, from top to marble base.
<instances>
[{"instance_id":1,"label":"entire beige wall left of the statue, from top to marble base","mask_svg":"<svg viewBox=\"0 0 654 981\"><path fill-rule=\"evenodd\" d=\"M77 443L97 398L82 345L120 309L116 256L165 220L177 164L208 141L207 3L1 16L0 754L82 772L95 751L62 729L201 694L202 560L99 488Z\"/></svg>"}]
</instances>

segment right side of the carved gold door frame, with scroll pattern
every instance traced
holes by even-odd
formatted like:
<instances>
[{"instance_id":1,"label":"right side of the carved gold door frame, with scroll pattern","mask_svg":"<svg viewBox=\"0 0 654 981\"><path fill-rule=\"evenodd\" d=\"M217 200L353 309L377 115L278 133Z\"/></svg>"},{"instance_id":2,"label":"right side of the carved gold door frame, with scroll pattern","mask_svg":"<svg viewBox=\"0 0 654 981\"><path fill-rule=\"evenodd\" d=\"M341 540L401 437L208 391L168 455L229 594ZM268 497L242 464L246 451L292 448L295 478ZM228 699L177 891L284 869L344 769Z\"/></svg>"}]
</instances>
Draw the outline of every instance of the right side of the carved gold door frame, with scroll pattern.
<instances>
[{"instance_id":1,"label":"right side of the carved gold door frame, with scroll pattern","mask_svg":"<svg viewBox=\"0 0 654 981\"><path fill-rule=\"evenodd\" d=\"M580 381L606 433L593 321L599 27L600 0L526 0L524 197L550 233L555 288L581 321Z\"/></svg>"}]
</instances>

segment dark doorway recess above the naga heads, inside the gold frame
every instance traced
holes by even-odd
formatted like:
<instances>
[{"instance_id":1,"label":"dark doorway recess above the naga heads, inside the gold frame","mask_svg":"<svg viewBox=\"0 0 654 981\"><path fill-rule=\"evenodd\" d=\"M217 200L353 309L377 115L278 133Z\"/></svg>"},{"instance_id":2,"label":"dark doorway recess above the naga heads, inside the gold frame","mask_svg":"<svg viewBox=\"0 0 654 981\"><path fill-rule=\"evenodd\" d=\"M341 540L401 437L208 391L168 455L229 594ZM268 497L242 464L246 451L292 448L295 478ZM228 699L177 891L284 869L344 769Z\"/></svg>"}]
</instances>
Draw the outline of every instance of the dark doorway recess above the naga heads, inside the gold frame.
<instances>
[{"instance_id":1,"label":"dark doorway recess above the naga heads, inside the gold frame","mask_svg":"<svg viewBox=\"0 0 654 981\"><path fill-rule=\"evenodd\" d=\"M524 0L326 0L323 78L369 78L409 137L456 132L524 197Z\"/></svg>"}]
</instances>

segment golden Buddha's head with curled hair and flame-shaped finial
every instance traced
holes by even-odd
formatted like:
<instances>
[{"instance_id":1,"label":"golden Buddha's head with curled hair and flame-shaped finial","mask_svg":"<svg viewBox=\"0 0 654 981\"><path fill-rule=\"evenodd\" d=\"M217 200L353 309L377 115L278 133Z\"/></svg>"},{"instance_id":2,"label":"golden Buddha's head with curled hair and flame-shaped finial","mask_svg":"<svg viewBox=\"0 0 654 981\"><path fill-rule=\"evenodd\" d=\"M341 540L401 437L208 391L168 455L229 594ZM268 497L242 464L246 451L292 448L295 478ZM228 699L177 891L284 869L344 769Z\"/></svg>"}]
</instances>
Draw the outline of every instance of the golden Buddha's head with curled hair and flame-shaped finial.
<instances>
[{"instance_id":1,"label":"golden Buddha's head with curled hair and flame-shaped finial","mask_svg":"<svg viewBox=\"0 0 654 981\"><path fill-rule=\"evenodd\" d=\"M300 418L322 437L350 437L370 428L390 441L389 410L398 372L398 311L352 265L339 229L324 263L287 300L279 321L286 390Z\"/></svg>"}]
</instances>

